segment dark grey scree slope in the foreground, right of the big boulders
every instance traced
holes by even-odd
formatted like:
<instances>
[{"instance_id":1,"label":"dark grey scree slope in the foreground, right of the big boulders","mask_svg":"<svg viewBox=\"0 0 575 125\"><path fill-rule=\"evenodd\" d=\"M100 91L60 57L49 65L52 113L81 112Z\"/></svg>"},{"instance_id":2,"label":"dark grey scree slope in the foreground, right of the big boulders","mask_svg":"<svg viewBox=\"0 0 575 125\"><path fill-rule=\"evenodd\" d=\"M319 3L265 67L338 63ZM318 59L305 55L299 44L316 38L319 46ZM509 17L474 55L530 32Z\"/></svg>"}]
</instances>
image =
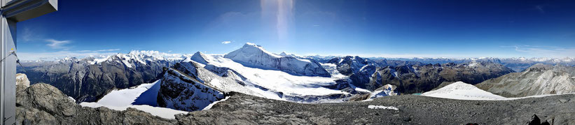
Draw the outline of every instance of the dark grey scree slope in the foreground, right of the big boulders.
<instances>
[{"instance_id":1,"label":"dark grey scree slope in the foreground, right of the big boulders","mask_svg":"<svg viewBox=\"0 0 575 125\"><path fill-rule=\"evenodd\" d=\"M232 94L211 110L176 115L179 124L525 124L537 114L541 121L575 124L575 103L557 98L575 94L513 101L462 101L403 95L374 101L303 104ZM368 105L399 110L369 109Z\"/></svg>"}]
</instances>

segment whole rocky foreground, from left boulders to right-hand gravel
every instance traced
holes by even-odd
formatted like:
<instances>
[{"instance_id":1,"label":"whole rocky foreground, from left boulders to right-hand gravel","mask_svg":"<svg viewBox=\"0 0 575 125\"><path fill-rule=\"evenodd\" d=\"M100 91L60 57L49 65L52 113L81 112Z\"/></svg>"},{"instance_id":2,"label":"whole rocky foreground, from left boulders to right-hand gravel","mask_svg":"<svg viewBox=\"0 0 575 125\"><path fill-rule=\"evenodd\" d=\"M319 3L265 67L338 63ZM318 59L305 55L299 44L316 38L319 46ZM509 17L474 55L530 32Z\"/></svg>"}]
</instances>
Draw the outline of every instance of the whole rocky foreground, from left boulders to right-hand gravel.
<instances>
[{"instance_id":1,"label":"whole rocky foreground, from left boulders to right-hand gravel","mask_svg":"<svg viewBox=\"0 0 575 125\"><path fill-rule=\"evenodd\" d=\"M230 93L210 110L162 119L128 108L85 108L49 84L17 86L18 124L575 124L575 94L512 101L386 96L374 101L303 104ZM398 110L374 109L370 105Z\"/></svg>"}]
</instances>

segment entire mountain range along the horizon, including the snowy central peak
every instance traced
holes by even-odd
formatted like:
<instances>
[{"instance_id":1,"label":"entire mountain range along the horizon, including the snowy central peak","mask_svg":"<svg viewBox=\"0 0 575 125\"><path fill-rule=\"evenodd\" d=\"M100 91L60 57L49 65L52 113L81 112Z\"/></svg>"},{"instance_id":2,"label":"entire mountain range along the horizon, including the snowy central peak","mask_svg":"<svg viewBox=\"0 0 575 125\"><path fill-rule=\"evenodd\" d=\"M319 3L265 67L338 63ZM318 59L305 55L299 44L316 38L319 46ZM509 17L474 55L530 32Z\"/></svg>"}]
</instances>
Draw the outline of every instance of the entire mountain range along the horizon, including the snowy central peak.
<instances>
[{"instance_id":1,"label":"entire mountain range along the horizon, including the snowy central peak","mask_svg":"<svg viewBox=\"0 0 575 125\"><path fill-rule=\"evenodd\" d=\"M514 71L523 71L536 63L574 66L574 60L297 56L286 52L274 54L260 45L247 43L224 55L132 51L106 57L25 61L25 70L19 68L18 71L26 73L32 84L43 82L57 87L64 94L76 99L76 103L97 101L113 89L125 89L170 77L194 79L201 84L207 84L208 89L224 94L235 91L265 98L314 103L346 101L354 95L377 95L375 91L389 88L394 90L387 91L385 95L390 92L425 92L443 82L463 81L477 84ZM172 70L171 75L166 74L170 71L168 69ZM181 75L174 75L176 73ZM195 84L186 80L183 82ZM161 83L183 82L171 80ZM179 91L174 88L164 90L165 94L169 93L166 91ZM186 100L168 94L162 97L162 105L168 106L170 102L181 103L174 102L174 99ZM198 110L200 107L182 109Z\"/></svg>"}]
</instances>

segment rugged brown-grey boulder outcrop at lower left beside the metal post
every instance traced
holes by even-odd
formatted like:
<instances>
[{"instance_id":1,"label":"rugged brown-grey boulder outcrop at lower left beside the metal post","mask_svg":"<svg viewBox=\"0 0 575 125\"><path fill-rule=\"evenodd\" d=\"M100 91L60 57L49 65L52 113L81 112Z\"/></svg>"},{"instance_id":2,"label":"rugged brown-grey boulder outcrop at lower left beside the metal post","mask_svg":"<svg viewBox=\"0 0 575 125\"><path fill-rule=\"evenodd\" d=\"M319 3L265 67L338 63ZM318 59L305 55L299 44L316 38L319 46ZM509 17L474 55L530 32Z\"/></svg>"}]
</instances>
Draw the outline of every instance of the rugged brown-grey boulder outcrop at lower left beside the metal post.
<instances>
[{"instance_id":1,"label":"rugged brown-grey boulder outcrop at lower left beside the metal post","mask_svg":"<svg viewBox=\"0 0 575 125\"><path fill-rule=\"evenodd\" d=\"M134 108L85 108L50 84L16 86L17 124L174 124Z\"/></svg>"}]
</instances>

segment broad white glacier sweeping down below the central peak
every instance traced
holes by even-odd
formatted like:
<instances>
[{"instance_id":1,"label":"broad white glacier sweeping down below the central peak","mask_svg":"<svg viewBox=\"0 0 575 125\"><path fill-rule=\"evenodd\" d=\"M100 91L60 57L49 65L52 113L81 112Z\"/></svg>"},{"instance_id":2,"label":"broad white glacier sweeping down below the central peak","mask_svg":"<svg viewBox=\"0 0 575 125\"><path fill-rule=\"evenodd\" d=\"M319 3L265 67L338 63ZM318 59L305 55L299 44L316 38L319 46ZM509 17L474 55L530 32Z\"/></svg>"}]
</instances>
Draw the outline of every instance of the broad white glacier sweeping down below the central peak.
<instances>
[{"instance_id":1,"label":"broad white glacier sweeping down below the central peak","mask_svg":"<svg viewBox=\"0 0 575 125\"><path fill-rule=\"evenodd\" d=\"M200 62L204 62L204 64ZM207 69L207 71L210 71L211 73L220 75L219 77L221 78L216 76L202 77L202 74L210 73L198 72L196 75L199 75L200 80L205 81L206 84L214 84L215 87L224 88L226 85L216 85L217 82L214 83L212 81L229 81L226 80L228 78L232 78L233 81L240 81L243 84L240 87L225 87L228 89L226 91L240 91L240 93L245 94L246 91L242 92L243 90L240 89L249 89L251 92L247 94L250 95L301 103L326 101L330 100L330 96L333 95L349 96L349 93L347 92L324 87L336 84L335 80L341 79L339 77L345 77L343 75L336 75L338 77L329 78L321 76L293 75L284 71L244 66L232 59L225 58L221 54L203 54L202 52L196 52L192 57L190 57L190 59L186 59L175 66L188 65L187 67L193 67L189 64L195 64L195 66L201 68L184 70L184 72L195 71L197 69L202 69L200 71L204 71L204 69ZM324 65L320 64L319 66L322 66L322 69L324 69ZM193 73L190 72L190 74ZM224 75L227 76L223 77ZM226 83L228 83L227 86L233 85L229 82Z\"/></svg>"}]
</instances>

